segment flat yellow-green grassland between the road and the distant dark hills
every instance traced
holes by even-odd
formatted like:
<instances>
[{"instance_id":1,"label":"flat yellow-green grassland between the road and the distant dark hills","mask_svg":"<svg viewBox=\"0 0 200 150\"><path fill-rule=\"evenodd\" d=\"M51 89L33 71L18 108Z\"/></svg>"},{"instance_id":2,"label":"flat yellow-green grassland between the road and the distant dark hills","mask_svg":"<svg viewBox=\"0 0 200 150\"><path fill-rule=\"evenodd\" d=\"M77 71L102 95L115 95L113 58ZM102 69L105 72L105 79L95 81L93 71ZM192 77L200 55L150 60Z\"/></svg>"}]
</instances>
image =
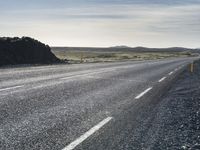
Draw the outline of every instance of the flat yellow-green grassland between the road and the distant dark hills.
<instances>
[{"instance_id":1,"label":"flat yellow-green grassland between the road and the distant dark hills","mask_svg":"<svg viewBox=\"0 0 200 150\"><path fill-rule=\"evenodd\" d=\"M70 63L113 62L124 60L154 60L173 57L189 57L189 52L98 52L98 51L59 51L53 53Z\"/></svg>"}]
</instances>

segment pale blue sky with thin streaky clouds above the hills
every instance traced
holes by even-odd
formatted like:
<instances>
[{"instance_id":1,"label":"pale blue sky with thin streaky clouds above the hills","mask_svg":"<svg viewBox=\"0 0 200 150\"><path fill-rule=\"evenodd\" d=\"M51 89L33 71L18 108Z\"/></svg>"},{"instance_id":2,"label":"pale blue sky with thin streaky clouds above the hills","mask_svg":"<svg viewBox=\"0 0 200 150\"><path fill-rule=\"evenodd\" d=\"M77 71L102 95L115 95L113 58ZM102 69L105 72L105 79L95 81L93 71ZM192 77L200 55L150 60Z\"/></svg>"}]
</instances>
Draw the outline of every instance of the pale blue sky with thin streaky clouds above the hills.
<instances>
[{"instance_id":1,"label":"pale blue sky with thin streaky clouds above the hills","mask_svg":"<svg viewBox=\"0 0 200 150\"><path fill-rule=\"evenodd\" d=\"M0 36L50 46L200 47L200 0L0 0Z\"/></svg>"}]
</instances>

